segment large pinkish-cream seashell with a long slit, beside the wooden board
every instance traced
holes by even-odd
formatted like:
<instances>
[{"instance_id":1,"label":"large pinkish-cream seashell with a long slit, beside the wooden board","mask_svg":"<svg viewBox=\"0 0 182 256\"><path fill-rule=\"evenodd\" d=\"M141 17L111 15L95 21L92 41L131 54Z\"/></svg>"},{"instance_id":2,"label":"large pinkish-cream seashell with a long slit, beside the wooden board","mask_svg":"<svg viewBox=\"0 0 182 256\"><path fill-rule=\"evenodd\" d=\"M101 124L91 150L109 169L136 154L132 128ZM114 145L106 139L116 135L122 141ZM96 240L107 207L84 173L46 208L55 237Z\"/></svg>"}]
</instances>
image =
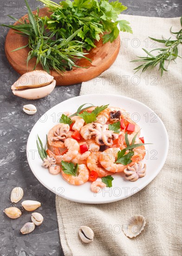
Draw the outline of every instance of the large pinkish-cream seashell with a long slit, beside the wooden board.
<instances>
[{"instance_id":1,"label":"large pinkish-cream seashell with a long slit, beside the wooden board","mask_svg":"<svg viewBox=\"0 0 182 256\"><path fill-rule=\"evenodd\" d=\"M20 76L12 85L13 94L28 100L36 100L50 94L56 81L43 70L34 70Z\"/></svg>"}]
</instances>

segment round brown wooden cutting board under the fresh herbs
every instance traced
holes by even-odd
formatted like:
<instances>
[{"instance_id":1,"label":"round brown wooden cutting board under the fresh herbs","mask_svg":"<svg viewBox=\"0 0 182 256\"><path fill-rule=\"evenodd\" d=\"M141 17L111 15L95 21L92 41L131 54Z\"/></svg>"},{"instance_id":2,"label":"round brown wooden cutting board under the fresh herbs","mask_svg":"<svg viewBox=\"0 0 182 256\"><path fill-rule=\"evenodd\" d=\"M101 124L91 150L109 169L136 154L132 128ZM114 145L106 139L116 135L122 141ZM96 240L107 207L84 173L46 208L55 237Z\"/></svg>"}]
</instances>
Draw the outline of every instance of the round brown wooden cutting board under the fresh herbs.
<instances>
[{"instance_id":1,"label":"round brown wooden cutting board under the fresh herbs","mask_svg":"<svg viewBox=\"0 0 182 256\"><path fill-rule=\"evenodd\" d=\"M36 10L33 11L33 13L36 13ZM50 12L48 12L47 8L40 9L39 16L45 15L50 15ZM22 17L22 19L24 20L24 18L27 17L28 15L26 14ZM18 22L15 22L15 24L17 23ZM25 74L27 71L32 71L36 63L36 58L33 58L28 62L27 67L26 59L28 52L30 51L30 48L28 47L12 52L14 49L26 45L27 42L28 39L26 37L15 33L15 30L13 29L9 30L5 42L5 53L11 66L20 74ZM103 44L101 39L96 42L95 45L97 47L92 48L87 55L87 57L91 59L92 62L83 58L76 62L76 64L80 67L88 68L74 68L71 71L65 71L63 74L58 74L54 70L50 71L50 74L52 74L56 80L56 85L72 85L91 80L112 65L112 63L117 58L117 54L119 53L119 36L112 43L108 42ZM36 69L42 70L41 65L38 64Z\"/></svg>"}]
</instances>

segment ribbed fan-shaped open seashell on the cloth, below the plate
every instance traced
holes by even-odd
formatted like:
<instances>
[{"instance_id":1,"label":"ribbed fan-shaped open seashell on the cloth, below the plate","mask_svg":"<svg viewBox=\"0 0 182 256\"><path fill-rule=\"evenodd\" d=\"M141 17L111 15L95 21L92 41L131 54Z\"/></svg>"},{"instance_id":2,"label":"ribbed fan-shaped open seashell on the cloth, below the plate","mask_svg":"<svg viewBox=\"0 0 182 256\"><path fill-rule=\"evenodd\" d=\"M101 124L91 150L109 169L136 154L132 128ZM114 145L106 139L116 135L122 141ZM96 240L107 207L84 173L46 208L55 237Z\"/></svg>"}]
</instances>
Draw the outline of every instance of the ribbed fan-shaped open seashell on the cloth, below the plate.
<instances>
[{"instance_id":1,"label":"ribbed fan-shaped open seashell on the cloth, below the plate","mask_svg":"<svg viewBox=\"0 0 182 256\"><path fill-rule=\"evenodd\" d=\"M123 225L123 233L130 238L138 236L146 224L142 215L134 215Z\"/></svg>"}]
</instances>

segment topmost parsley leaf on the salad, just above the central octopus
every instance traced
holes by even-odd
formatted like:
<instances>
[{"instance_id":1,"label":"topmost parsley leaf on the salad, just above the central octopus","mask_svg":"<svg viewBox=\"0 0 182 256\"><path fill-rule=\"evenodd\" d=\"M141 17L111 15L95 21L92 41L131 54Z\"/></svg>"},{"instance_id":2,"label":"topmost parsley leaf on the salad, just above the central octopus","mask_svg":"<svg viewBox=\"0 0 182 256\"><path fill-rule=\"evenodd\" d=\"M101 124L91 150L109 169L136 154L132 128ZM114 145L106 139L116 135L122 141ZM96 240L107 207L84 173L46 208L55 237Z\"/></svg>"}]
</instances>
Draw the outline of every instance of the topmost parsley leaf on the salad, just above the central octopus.
<instances>
[{"instance_id":1,"label":"topmost parsley leaf on the salad, just above the central octopus","mask_svg":"<svg viewBox=\"0 0 182 256\"><path fill-rule=\"evenodd\" d=\"M96 121L96 117L97 115L100 114L100 112L102 112L104 109L106 109L108 105L102 105L100 107L96 107L91 113L84 111L81 114L78 114L78 116L82 117L85 121L85 123L91 123L91 122L95 122Z\"/></svg>"}]
</instances>

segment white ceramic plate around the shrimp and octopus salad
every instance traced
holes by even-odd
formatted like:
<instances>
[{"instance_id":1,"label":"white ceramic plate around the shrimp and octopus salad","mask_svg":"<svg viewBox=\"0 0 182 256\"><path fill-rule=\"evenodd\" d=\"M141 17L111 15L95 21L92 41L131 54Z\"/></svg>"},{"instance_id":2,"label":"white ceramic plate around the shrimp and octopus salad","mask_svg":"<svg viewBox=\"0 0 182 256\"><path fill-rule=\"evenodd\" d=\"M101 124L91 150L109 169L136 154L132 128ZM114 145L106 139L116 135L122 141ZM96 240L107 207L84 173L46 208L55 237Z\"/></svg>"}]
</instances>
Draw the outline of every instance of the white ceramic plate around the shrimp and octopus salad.
<instances>
[{"instance_id":1,"label":"white ceramic plate around the shrimp and octopus salad","mask_svg":"<svg viewBox=\"0 0 182 256\"><path fill-rule=\"evenodd\" d=\"M142 128L141 137L144 136L146 156L143 163L147 165L145 177L136 182L127 181L122 173L114 174L112 188L102 189L100 193L92 193L91 182L81 186L73 186L67 183L60 174L51 175L48 169L41 166L42 160L36 146L37 134L43 145L46 142L46 134L58 123L61 113L65 111L76 112L84 103L92 103L95 106L110 104L121 107L129 112L133 121ZM162 169L168 154L168 135L161 119L143 103L118 95L89 94L63 101L49 109L34 125L27 141L27 159L33 174L47 189L64 198L82 203L108 203L124 199L147 186ZM151 191L152 192L152 191Z\"/></svg>"}]
</instances>

